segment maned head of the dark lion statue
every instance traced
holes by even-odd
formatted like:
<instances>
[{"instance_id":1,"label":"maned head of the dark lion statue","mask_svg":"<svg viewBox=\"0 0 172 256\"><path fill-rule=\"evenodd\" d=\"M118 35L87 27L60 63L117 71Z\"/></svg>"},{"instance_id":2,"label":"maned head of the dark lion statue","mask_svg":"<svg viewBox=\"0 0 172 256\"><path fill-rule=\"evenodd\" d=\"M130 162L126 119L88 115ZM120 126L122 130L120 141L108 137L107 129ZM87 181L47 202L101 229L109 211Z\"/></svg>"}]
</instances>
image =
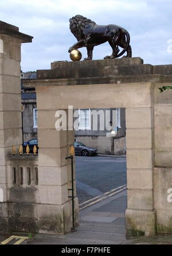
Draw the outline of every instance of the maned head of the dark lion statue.
<instances>
[{"instance_id":1,"label":"maned head of the dark lion statue","mask_svg":"<svg viewBox=\"0 0 172 256\"><path fill-rule=\"evenodd\" d=\"M77 38L77 40L83 39L83 29L88 28L90 25L95 25L96 22L89 20L82 15L76 15L69 20L72 34Z\"/></svg>"}]
</instances>

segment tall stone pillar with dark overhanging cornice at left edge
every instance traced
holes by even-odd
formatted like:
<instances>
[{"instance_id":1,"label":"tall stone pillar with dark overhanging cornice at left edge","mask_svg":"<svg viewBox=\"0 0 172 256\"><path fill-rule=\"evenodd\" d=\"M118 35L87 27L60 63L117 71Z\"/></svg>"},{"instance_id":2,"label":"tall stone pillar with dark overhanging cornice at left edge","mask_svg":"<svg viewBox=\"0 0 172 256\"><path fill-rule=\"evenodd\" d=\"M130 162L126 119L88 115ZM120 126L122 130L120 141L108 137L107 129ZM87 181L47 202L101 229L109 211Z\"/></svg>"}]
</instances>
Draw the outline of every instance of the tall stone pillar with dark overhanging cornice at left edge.
<instances>
[{"instance_id":1,"label":"tall stone pillar with dark overhanging cornice at left edge","mask_svg":"<svg viewBox=\"0 0 172 256\"><path fill-rule=\"evenodd\" d=\"M22 143L21 43L32 38L0 21L0 231L8 229L6 157Z\"/></svg>"}]
</instances>

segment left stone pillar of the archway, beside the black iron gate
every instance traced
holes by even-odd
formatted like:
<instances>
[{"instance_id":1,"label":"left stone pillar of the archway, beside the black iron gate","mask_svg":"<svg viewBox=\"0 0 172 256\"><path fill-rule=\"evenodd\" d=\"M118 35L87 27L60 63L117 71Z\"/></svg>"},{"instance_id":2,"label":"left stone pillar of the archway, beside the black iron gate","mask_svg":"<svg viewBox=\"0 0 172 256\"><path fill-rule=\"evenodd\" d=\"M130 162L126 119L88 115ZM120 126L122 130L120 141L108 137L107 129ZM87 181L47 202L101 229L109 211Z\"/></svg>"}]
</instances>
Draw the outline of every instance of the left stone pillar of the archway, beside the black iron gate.
<instances>
[{"instance_id":1,"label":"left stone pillar of the archway, beside the black iron gate","mask_svg":"<svg viewBox=\"0 0 172 256\"><path fill-rule=\"evenodd\" d=\"M38 110L38 165L40 204L38 204L38 230L49 234L66 234L72 227L71 161L65 160L69 145L73 144L73 131L56 130L56 110L42 101L44 89L37 88ZM67 113L66 110L64 110ZM78 203L75 199L75 224L78 223Z\"/></svg>"}]
</instances>

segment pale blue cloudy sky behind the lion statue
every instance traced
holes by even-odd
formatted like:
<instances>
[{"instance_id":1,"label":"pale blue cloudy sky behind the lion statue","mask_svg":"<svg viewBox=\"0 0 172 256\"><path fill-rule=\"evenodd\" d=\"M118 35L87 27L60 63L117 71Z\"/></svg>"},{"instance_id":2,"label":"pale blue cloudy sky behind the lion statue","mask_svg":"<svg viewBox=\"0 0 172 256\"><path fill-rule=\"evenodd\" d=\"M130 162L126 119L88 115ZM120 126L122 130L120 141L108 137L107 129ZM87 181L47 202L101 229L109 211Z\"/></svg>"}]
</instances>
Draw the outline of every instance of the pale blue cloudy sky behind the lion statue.
<instances>
[{"instance_id":1,"label":"pale blue cloudy sky behind the lion statue","mask_svg":"<svg viewBox=\"0 0 172 256\"><path fill-rule=\"evenodd\" d=\"M144 63L172 64L171 0L1 0L1 20L33 36L22 44L22 71L49 69L56 60L70 60L68 49L76 42L69 18L80 14L97 24L116 24L131 36L133 57ZM83 57L86 51L81 48ZM93 59L111 55L108 43L96 46Z\"/></svg>"}]
</instances>

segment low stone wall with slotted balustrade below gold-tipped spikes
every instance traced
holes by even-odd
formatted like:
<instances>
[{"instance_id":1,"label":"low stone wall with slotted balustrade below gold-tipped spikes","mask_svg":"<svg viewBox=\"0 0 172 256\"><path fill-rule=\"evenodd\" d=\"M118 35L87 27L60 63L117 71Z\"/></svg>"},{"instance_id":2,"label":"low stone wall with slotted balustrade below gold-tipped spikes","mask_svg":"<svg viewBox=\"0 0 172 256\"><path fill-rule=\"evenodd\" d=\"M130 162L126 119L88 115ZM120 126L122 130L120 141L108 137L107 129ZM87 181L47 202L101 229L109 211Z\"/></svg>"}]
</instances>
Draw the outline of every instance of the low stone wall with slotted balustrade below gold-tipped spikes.
<instances>
[{"instance_id":1,"label":"low stone wall with slotted balustrade below gold-tipped spikes","mask_svg":"<svg viewBox=\"0 0 172 256\"><path fill-rule=\"evenodd\" d=\"M38 157L6 159L8 230L38 232Z\"/></svg>"}]
</instances>

